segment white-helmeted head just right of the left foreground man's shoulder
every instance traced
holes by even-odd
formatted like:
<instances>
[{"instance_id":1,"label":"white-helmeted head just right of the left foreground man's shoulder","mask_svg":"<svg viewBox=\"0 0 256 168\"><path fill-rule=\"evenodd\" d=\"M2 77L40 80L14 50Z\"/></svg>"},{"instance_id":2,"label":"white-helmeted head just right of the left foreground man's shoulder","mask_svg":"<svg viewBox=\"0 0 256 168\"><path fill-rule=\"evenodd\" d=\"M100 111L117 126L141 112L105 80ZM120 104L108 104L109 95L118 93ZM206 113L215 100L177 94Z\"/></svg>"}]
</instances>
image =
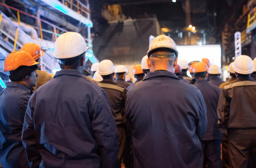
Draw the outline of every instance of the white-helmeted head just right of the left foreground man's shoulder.
<instances>
[{"instance_id":1,"label":"white-helmeted head just right of the left foreground man's shoulder","mask_svg":"<svg viewBox=\"0 0 256 168\"><path fill-rule=\"evenodd\" d=\"M112 79L115 75L115 66L112 61L109 59L104 59L99 64L99 74L103 79Z\"/></svg>"}]
</instances>

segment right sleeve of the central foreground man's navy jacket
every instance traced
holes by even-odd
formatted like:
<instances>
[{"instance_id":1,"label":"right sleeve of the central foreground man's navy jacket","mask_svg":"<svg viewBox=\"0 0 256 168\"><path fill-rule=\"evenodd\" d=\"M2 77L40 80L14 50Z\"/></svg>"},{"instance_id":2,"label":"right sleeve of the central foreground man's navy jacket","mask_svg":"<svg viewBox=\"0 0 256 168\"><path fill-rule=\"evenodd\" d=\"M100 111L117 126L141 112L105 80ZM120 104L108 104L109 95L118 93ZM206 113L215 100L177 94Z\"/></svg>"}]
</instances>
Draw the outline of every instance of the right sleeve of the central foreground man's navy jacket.
<instances>
[{"instance_id":1,"label":"right sleeve of the central foreground man's navy jacket","mask_svg":"<svg viewBox=\"0 0 256 168\"><path fill-rule=\"evenodd\" d=\"M202 138L205 136L205 132L207 129L207 108L205 104L205 100L200 92L199 97L199 111L198 111L198 121L196 124L196 134L200 141L202 141Z\"/></svg>"}]
</instances>

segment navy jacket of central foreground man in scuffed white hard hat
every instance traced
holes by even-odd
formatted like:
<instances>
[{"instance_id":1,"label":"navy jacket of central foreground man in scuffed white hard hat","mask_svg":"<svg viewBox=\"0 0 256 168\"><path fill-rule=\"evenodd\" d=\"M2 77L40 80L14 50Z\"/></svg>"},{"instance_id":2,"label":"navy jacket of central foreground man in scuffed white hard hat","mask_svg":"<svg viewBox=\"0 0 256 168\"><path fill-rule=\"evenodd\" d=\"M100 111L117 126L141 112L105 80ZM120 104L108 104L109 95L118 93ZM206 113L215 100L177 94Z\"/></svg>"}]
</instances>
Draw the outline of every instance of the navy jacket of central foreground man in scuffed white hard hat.
<instances>
[{"instance_id":1,"label":"navy jacket of central foreground man in scuffed white hard hat","mask_svg":"<svg viewBox=\"0 0 256 168\"><path fill-rule=\"evenodd\" d=\"M126 100L134 168L202 168L207 116L195 86L172 72L149 72Z\"/></svg>"}]
</instances>

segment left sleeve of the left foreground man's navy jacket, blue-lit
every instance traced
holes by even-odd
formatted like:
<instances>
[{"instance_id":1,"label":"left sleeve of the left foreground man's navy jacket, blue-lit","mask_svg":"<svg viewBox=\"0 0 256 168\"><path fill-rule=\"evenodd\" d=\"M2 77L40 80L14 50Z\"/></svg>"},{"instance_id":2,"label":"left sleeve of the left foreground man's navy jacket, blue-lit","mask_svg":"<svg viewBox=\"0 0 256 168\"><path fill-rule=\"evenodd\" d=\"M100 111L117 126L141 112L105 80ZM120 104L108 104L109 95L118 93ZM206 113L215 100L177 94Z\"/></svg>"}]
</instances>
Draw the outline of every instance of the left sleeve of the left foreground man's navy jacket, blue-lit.
<instances>
[{"instance_id":1,"label":"left sleeve of the left foreground man's navy jacket, blue-lit","mask_svg":"<svg viewBox=\"0 0 256 168\"><path fill-rule=\"evenodd\" d=\"M31 168L38 168L41 162L41 155L38 153L36 144L36 134L34 130L34 108L33 96L28 101L28 106L25 113L24 124L22 128L22 143L26 150L27 159Z\"/></svg>"}]
</instances>

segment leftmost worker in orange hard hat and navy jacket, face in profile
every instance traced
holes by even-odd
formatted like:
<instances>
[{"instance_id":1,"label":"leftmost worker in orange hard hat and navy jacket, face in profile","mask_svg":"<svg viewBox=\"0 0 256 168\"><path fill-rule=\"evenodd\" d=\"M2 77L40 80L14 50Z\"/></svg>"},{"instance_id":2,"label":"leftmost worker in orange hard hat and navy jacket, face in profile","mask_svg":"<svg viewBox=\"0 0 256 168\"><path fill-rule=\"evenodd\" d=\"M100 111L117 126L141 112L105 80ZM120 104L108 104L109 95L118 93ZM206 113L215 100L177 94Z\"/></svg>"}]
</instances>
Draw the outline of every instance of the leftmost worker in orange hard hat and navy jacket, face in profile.
<instances>
[{"instance_id":1,"label":"leftmost worker in orange hard hat and navy jacket, face in profile","mask_svg":"<svg viewBox=\"0 0 256 168\"><path fill-rule=\"evenodd\" d=\"M29 168L26 151L21 142L21 131L28 100L33 93L31 88L36 86L38 67L35 61L32 66L25 65L24 63L31 62L33 58L26 53L26 62L23 53L11 53L5 59L5 66L8 58L13 56L16 60L22 57L23 62L13 62L21 66L10 71L9 78L12 82L6 82L6 88L0 94L0 163L3 168ZM9 64L8 67L12 65Z\"/></svg>"}]
</instances>

